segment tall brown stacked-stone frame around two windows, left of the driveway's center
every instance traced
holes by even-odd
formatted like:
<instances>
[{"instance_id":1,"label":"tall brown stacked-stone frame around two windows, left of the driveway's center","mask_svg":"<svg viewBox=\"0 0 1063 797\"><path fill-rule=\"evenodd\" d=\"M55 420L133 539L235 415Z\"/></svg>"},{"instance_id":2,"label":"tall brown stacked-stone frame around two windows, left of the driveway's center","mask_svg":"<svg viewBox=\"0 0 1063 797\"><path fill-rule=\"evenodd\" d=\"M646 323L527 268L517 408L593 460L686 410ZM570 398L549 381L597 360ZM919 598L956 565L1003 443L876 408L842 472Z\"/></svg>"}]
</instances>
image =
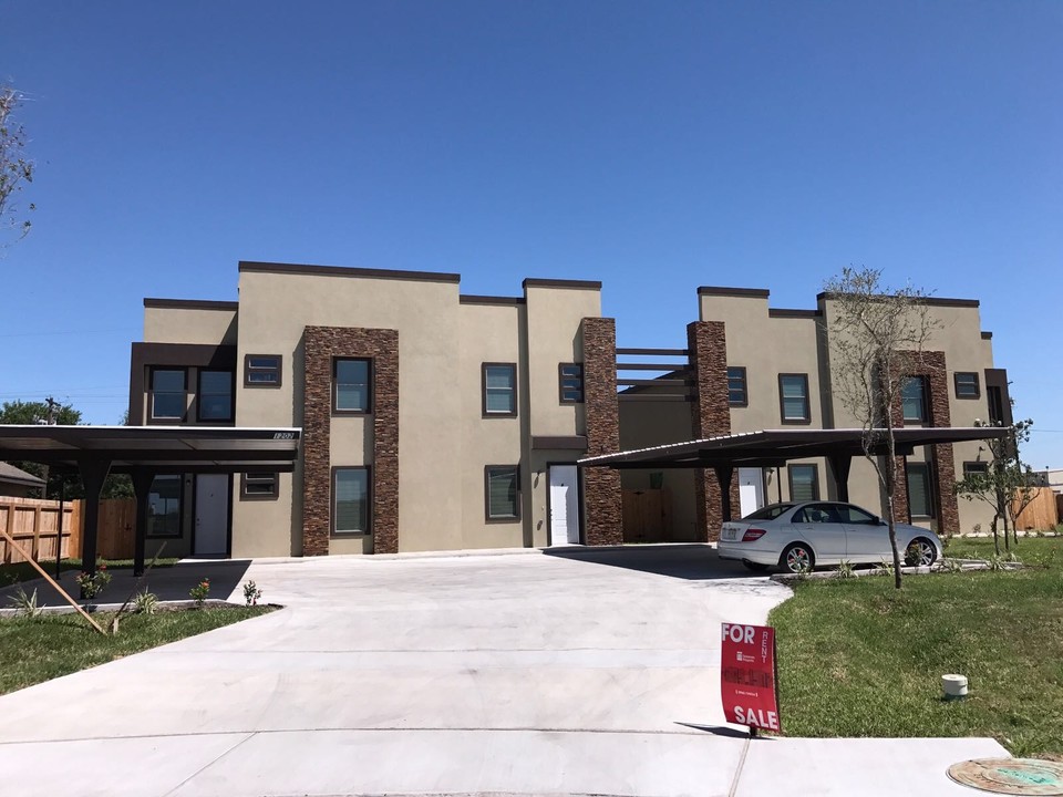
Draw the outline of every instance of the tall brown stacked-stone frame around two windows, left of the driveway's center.
<instances>
[{"instance_id":1,"label":"tall brown stacked-stone frame around two windows, left of the driveway's center","mask_svg":"<svg viewBox=\"0 0 1063 797\"><path fill-rule=\"evenodd\" d=\"M399 332L388 329L307 327L302 421L302 553L329 552L332 511L333 358L373 361L373 462L370 465L374 553L399 551ZM344 465L347 463L339 463Z\"/></svg>"}]
</instances>

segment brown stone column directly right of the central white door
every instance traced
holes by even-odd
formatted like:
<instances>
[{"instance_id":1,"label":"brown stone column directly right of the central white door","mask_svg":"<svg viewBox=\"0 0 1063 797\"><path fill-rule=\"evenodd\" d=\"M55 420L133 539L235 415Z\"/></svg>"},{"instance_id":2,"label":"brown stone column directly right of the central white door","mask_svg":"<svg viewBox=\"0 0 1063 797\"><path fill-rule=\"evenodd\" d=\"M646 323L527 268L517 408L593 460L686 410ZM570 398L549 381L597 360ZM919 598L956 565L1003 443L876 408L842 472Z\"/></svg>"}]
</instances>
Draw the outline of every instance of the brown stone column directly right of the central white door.
<instances>
[{"instance_id":1,"label":"brown stone column directly right of the central white door","mask_svg":"<svg viewBox=\"0 0 1063 797\"><path fill-rule=\"evenodd\" d=\"M617 398L617 323L613 319L585 318L584 411L587 417L587 456L620 451L620 402ZM584 468L584 537L587 545L622 545L623 513L620 472Z\"/></svg>"}]
</instances>

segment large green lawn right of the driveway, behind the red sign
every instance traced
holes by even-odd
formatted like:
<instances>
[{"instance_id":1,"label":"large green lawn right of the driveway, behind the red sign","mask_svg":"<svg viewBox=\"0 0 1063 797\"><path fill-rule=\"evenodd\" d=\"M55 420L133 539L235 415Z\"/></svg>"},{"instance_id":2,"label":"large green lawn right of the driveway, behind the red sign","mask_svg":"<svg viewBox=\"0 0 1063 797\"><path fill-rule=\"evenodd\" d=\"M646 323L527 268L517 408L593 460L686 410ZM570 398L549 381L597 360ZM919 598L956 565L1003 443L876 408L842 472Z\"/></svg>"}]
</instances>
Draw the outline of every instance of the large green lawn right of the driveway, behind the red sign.
<instances>
[{"instance_id":1,"label":"large green lawn right of the driveway, behind the red sign","mask_svg":"<svg viewBox=\"0 0 1063 797\"><path fill-rule=\"evenodd\" d=\"M949 556L985 557L991 539ZM1063 538L1022 539L1020 571L809 580L772 614L793 736L993 736L1063 759ZM940 676L970 680L962 702Z\"/></svg>"}]
</instances>

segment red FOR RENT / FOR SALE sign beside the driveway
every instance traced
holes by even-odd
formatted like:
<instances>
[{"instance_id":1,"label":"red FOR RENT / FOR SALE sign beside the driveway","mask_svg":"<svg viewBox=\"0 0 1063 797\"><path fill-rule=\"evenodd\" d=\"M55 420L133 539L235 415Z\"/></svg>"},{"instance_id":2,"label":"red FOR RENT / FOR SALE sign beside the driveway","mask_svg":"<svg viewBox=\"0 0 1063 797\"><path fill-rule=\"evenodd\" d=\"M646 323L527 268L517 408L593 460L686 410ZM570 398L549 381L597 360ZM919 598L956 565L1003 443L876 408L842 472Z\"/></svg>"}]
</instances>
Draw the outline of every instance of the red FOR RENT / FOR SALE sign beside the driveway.
<instances>
[{"instance_id":1,"label":"red FOR RENT / FOR SALE sign beside the driveway","mask_svg":"<svg viewBox=\"0 0 1063 797\"><path fill-rule=\"evenodd\" d=\"M782 733L775 696L775 629L723 623L720 692L727 722Z\"/></svg>"}]
</instances>

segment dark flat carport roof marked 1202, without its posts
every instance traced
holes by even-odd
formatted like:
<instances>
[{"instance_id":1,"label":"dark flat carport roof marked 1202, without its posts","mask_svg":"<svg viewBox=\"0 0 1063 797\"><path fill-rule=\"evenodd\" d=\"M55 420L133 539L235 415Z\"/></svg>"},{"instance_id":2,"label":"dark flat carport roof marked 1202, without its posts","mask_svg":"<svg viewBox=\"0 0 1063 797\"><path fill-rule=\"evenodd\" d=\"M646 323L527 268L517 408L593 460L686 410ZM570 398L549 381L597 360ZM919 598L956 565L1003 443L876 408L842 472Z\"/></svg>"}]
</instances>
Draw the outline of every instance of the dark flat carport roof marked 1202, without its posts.
<instances>
[{"instance_id":1,"label":"dark flat carport roof marked 1202, without its posts","mask_svg":"<svg viewBox=\"0 0 1063 797\"><path fill-rule=\"evenodd\" d=\"M183 473L290 473L300 428L205 426L2 426L0 459L78 468L111 464Z\"/></svg>"}]
</instances>

